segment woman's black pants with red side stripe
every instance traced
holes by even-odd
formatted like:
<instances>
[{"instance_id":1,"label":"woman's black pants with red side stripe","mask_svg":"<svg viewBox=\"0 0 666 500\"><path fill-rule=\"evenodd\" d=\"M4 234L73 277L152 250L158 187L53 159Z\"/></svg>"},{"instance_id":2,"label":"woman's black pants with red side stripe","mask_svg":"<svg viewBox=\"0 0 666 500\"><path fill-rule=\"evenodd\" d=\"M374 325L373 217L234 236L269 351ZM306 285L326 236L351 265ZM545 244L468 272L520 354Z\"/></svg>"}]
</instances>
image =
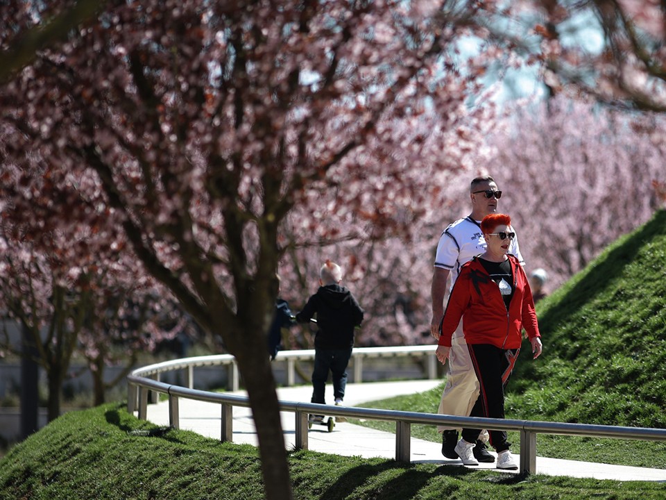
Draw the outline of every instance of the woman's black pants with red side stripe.
<instances>
[{"instance_id":1,"label":"woman's black pants with red side stripe","mask_svg":"<svg viewBox=\"0 0 666 500\"><path fill-rule=\"evenodd\" d=\"M468 344L481 391L470 417L504 418L504 387L513 372L520 349L499 349L490 344ZM463 428L463 439L476 442L480 428ZM490 446L499 453L511 447L506 431L488 431Z\"/></svg>"}]
</instances>

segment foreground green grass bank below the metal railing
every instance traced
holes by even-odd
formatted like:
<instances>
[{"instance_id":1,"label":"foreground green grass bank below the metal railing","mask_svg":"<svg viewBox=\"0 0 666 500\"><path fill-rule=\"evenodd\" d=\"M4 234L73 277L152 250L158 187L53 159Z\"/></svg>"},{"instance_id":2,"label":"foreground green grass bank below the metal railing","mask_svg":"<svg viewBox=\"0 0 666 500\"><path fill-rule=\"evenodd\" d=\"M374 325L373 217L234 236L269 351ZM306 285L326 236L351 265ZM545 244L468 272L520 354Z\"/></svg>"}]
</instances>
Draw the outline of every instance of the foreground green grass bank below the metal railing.
<instances>
[{"instance_id":1,"label":"foreground green grass bank below the metal railing","mask_svg":"<svg viewBox=\"0 0 666 500\"><path fill-rule=\"evenodd\" d=\"M529 476L292 451L297 500L663 500L666 485ZM260 500L257 449L157 428L106 404L69 412L0 460L0 500Z\"/></svg>"}]
</instances>

